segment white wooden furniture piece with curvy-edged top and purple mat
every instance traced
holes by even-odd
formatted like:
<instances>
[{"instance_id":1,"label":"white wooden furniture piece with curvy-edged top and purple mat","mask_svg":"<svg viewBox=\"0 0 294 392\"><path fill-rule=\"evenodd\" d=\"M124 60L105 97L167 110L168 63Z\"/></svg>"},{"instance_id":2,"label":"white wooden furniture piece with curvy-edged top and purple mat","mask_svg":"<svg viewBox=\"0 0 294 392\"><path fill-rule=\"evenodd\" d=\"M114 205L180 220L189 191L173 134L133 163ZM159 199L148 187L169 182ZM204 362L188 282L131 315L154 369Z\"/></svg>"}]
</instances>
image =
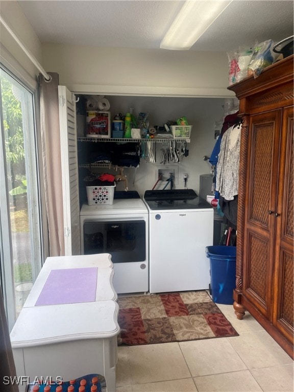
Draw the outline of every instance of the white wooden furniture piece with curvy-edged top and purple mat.
<instances>
[{"instance_id":1,"label":"white wooden furniture piece with curvy-edged top and purple mat","mask_svg":"<svg viewBox=\"0 0 294 392\"><path fill-rule=\"evenodd\" d=\"M113 274L109 254L46 259L10 334L18 377L69 381L101 374L107 392L115 392L119 326ZM62 282L70 276L74 284L68 292ZM87 285L83 278L89 276ZM79 302L85 293L92 299ZM68 303L71 296L74 303Z\"/></svg>"}]
</instances>

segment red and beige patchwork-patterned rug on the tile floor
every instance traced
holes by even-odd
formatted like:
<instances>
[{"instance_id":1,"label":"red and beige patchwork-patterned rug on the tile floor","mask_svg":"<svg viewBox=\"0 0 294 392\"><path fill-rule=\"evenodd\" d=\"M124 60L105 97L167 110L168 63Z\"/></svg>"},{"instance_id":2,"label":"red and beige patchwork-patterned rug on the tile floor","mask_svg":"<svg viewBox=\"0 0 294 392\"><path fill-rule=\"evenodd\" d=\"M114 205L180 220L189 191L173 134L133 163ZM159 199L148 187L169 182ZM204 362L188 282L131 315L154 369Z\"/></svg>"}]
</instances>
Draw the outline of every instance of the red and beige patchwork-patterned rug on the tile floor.
<instances>
[{"instance_id":1,"label":"red and beige patchwork-patterned rug on the tile floor","mask_svg":"<svg viewBox=\"0 0 294 392\"><path fill-rule=\"evenodd\" d=\"M118 344L150 345L238 336L206 291L119 297L118 305Z\"/></svg>"}]
</instances>

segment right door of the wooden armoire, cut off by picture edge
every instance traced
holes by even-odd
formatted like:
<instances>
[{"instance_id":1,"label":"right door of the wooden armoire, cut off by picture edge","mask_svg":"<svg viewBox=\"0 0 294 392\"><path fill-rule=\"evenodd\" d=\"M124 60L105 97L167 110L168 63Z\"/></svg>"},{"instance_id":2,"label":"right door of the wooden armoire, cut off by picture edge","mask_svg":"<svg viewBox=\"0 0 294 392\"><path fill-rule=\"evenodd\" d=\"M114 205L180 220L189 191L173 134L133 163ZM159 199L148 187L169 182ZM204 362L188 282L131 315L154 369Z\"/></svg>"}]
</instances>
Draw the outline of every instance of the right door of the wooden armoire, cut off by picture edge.
<instances>
[{"instance_id":1,"label":"right door of the wooden armoire, cut off by picture edge","mask_svg":"<svg viewBox=\"0 0 294 392\"><path fill-rule=\"evenodd\" d=\"M273 324L293 342L293 107L284 109L276 217Z\"/></svg>"}]
</instances>

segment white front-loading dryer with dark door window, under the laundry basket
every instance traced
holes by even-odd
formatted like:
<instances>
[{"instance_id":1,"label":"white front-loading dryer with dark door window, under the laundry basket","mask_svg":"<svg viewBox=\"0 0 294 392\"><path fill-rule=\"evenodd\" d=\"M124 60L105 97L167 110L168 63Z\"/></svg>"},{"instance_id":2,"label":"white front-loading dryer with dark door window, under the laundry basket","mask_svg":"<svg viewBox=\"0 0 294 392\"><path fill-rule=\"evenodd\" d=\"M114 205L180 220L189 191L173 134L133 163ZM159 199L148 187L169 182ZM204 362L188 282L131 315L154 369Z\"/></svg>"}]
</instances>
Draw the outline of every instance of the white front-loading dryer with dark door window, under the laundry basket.
<instances>
[{"instance_id":1,"label":"white front-loading dryer with dark door window, under the laundry basket","mask_svg":"<svg viewBox=\"0 0 294 392\"><path fill-rule=\"evenodd\" d=\"M112 205L81 208L81 253L111 254L118 294L149 290L148 216L136 191L115 191Z\"/></svg>"}]
</instances>

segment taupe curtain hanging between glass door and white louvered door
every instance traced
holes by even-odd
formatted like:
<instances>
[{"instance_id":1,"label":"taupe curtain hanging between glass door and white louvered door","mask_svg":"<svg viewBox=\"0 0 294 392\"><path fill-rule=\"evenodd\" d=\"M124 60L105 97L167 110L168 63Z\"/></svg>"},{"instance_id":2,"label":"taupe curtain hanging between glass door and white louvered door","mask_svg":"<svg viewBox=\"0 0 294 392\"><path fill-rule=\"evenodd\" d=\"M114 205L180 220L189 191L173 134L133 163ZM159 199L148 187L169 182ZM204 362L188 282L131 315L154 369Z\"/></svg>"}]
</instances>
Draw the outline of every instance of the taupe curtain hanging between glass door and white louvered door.
<instances>
[{"instance_id":1,"label":"taupe curtain hanging between glass door and white louvered door","mask_svg":"<svg viewBox=\"0 0 294 392\"><path fill-rule=\"evenodd\" d=\"M51 82L40 74L40 121L43 178L47 210L49 255L64 256L64 224L59 131L59 78L48 72Z\"/></svg>"}]
</instances>

